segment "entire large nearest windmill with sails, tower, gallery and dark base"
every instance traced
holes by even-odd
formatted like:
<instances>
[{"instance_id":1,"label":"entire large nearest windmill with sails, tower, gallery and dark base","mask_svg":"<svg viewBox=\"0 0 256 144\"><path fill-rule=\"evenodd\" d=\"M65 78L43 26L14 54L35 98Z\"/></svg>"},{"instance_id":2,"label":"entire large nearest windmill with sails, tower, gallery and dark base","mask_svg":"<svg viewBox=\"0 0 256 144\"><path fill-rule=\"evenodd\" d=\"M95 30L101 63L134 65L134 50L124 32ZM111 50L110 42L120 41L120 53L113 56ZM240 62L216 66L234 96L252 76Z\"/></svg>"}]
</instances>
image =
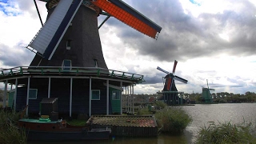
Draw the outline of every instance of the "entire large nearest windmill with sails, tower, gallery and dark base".
<instances>
[{"instance_id":1,"label":"entire large nearest windmill with sails, tower, gallery and dark base","mask_svg":"<svg viewBox=\"0 0 256 144\"><path fill-rule=\"evenodd\" d=\"M70 117L122 114L122 91L133 98L134 85L144 79L107 68L98 15L117 18L151 38L158 38L162 28L121 0L40 1L46 2L48 16L27 46L36 53L33 61L30 66L0 70L5 90L8 83L16 87L14 109L29 105L26 114L38 114L42 98L58 98L58 113Z\"/></svg>"}]
</instances>

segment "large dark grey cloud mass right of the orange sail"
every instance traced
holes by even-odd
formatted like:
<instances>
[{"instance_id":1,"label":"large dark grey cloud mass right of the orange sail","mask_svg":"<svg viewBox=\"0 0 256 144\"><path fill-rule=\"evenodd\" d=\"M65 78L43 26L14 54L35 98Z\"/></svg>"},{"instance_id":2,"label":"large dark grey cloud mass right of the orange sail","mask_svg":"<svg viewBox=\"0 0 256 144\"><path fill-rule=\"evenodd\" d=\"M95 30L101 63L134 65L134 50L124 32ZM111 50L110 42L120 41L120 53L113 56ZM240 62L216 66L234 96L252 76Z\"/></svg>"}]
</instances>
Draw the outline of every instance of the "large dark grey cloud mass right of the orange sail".
<instances>
[{"instance_id":1,"label":"large dark grey cloud mass right of the orange sail","mask_svg":"<svg viewBox=\"0 0 256 144\"><path fill-rule=\"evenodd\" d=\"M118 20L108 24L120 26L117 35L128 46L138 50L139 54L151 56L158 61L186 61L223 53L236 56L255 54L256 18L253 14L256 8L250 2L233 3L242 7L242 10L201 14L194 18L191 14L184 14L178 1L130 1L136 10L162 26L157 41L122 26ZM225 30L232 30L230 42L218 36Z\"/></svg>"}]
</instances>

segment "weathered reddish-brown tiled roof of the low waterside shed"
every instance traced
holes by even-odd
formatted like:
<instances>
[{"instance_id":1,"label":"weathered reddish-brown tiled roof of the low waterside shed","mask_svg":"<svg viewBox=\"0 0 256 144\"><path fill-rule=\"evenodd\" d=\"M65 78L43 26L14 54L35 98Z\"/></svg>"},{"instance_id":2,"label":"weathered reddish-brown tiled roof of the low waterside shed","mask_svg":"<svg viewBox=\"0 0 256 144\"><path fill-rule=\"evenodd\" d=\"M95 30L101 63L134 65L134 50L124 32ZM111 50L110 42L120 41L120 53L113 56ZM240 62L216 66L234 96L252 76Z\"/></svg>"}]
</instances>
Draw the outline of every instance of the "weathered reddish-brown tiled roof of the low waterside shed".
<instances>
[{"instance_id":1,"label":"weathered reddish-brown tiled roof of the low waterside shed","mask_svg":"<svg viewBox=\"0 0 256 144\"><path fill-rule=\"evenodd\" d=\"M93 115L86 124L104 125L104 126L140 126L157 127L154 115Z\"/></svg>"}]
</instances>

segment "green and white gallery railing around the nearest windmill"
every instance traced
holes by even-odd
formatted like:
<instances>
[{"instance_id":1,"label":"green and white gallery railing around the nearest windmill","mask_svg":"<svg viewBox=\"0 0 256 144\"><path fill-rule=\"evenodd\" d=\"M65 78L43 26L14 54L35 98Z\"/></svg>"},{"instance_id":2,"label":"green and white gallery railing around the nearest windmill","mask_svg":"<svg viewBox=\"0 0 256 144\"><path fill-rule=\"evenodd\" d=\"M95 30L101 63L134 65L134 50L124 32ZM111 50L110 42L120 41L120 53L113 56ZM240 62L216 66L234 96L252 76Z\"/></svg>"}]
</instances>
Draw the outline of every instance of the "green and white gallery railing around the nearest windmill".
<instances>
[{"instance_id":1,"label":"green and white gallery railing around the nearest windmill","mask_svg":"<svg viewBox=\"0 0 256 144\"><path fill-rule=\"evenodd\" d=\"M141 74L132 74L118 70L106 70L98 67L18 66L0 70L0 80L21 75L97 76L103 78L127 79L137 83L145 81Z\"/></svg>"}]
</instances>

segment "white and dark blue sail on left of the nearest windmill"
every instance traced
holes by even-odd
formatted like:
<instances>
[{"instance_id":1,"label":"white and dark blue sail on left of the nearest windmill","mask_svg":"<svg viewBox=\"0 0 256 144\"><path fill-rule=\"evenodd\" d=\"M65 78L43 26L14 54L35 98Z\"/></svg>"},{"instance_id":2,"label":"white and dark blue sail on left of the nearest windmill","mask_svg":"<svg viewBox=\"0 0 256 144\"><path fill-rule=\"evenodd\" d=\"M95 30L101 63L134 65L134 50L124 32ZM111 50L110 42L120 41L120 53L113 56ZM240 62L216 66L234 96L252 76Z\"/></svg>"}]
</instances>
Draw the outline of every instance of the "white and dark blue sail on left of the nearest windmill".
<instances>
[{"instance_id":1,"label":"white and dark blue sail on left of the nearest windmill","mask_svg":"<svg viewBox=\"0 0 256 144\"><path fill-rule=\"evenodd\" d=\"M50 60L81 3L82 0L75 0L74 2L70 0L60 1L42 30L36 35L33 42L30 42L29 46L37 50L44 58Z\"/></svg>"}]
</instances>

